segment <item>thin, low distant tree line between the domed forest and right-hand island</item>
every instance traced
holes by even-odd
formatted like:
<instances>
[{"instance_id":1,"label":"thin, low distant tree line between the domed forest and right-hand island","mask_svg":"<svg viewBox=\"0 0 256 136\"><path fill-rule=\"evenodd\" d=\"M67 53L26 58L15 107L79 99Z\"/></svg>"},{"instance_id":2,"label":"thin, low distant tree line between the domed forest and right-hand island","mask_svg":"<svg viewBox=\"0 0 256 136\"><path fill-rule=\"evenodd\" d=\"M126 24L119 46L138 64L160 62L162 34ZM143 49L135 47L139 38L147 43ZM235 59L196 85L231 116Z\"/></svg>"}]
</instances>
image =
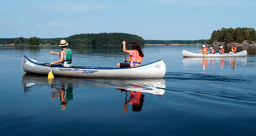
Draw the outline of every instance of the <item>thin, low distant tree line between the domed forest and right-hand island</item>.
<instances>
[{"instance_id":1,"label":"thin, low distant tree line between the domed forest and right-hand island","mask_svg":"<svg viewBox=\"0 0 256 136\"><path fill-rule=\"evenodd\" d=\"M206 40L145 40L147 44L203 44Z\"/></svg>"}]
</instances>

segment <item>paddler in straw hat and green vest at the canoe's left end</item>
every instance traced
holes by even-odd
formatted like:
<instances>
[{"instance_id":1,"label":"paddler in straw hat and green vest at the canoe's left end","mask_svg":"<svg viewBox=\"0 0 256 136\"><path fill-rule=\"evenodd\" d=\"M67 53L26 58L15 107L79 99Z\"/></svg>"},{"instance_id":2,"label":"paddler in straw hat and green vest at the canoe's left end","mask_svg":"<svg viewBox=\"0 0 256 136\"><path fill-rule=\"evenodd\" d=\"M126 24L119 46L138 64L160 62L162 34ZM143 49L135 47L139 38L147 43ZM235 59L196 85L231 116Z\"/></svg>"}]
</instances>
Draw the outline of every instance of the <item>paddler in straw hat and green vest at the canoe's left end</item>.
<instances>
[{"instance_id":1,"label":"paddler in straw hat and green vest at the canoe's left end","mask_svg":"<svg viewBox=\"0 0 256 136\"><path fill-rule=\"evenodd\" d=\"M56 54L60 56L59 61L51 62L50 65L61 63L57 66L71 67L72 63L72 51L70 48L67 48L68 43L65 40L60 41L60 47L62 48L59 53L54 53L50 51L51 54Z\"/></svg>"}]
</instances>

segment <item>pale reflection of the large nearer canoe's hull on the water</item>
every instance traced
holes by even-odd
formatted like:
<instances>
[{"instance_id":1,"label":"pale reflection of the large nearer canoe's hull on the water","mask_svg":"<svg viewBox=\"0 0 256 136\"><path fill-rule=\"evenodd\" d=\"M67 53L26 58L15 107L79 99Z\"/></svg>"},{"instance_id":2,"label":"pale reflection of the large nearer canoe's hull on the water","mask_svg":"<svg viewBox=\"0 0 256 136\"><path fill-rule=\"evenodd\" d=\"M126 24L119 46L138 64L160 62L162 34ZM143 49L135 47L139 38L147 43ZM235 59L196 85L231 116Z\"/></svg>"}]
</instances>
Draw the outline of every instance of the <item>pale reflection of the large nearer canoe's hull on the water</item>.
<instances>
[{"instance_id":1,"label":"pale reflection of the large nearer canoe's hull on the water","mask_svg":"<svg viewBox=\"0 0 256 136\"><path fill-rule=\"evenodd\" d=\"M68 78L56 77L52 83L43 75L34 75L26 73L22 76L22 86L24 91L31 90L35 85L67 85L72 84L73 88L84 86L101 86L104 88L116 88L125 91L137 91L142 93L150 93L155 95L163 95L165 79L121 79L121 78Z\"/></svg>"}]
</instances>

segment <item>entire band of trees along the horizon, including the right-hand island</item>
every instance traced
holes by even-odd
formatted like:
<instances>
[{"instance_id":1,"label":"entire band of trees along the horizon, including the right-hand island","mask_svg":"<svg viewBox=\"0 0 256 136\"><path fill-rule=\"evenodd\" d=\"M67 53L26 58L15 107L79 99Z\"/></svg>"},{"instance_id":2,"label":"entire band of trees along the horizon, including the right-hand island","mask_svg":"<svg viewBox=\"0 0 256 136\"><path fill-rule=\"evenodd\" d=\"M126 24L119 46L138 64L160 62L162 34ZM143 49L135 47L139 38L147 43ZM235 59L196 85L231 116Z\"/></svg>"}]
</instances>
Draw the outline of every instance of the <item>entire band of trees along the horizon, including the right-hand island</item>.
<instances>
[{"instance_id":1,"label":"entire band of trees along the horizon, including the right-hand island","mask_svg":"<svg viewBox=\"0 0 256 136\"><path fill-rule=\"evenodd\" d=\"M69 45L121 45L123 40L127 44L137 42L145 44L212 44L214 42L224 43L248 43L256 42L256 31L254 28L238 27L221 28L213 31L211 38L201 40L144 40L142 37L126 33L99 33L99 34L76 34L67 38L0 38L0 45L59 45L61 39L65 39Z\"/></svg>"}]
</instances>

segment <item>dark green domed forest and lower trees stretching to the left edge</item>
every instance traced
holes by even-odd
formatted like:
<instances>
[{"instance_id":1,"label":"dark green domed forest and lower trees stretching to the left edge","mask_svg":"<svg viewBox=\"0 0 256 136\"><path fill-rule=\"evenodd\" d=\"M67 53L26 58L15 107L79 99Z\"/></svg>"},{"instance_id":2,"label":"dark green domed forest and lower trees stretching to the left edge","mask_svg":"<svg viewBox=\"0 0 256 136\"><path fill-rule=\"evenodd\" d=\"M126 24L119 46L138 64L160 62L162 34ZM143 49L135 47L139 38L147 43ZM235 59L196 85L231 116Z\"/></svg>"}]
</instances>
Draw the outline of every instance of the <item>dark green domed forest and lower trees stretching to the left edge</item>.
<instances>
[{"instance_id":1,"label":"dark green domed forest and lower trees stretching to the left edge","mask_svg":"<svg viewBox=\"0 0 256 136\"><path fill-rule=\"evenodd\" d=\"M120 45L123 40L127 44L137 42L140 45L146 44L144 39L138 35L125 33L99 33L99 34L76 34L67 38L0 38L1 44L14 45L58 45L61 39L65 39L69 45Z\"/></svg>"}]
</instances>

